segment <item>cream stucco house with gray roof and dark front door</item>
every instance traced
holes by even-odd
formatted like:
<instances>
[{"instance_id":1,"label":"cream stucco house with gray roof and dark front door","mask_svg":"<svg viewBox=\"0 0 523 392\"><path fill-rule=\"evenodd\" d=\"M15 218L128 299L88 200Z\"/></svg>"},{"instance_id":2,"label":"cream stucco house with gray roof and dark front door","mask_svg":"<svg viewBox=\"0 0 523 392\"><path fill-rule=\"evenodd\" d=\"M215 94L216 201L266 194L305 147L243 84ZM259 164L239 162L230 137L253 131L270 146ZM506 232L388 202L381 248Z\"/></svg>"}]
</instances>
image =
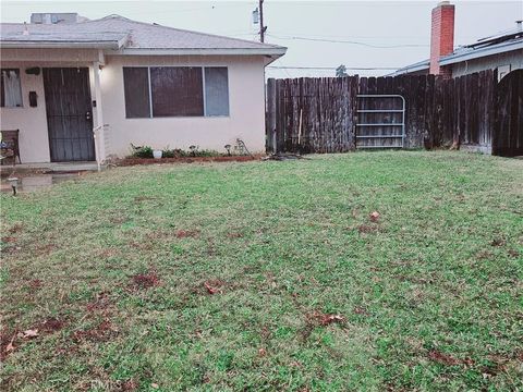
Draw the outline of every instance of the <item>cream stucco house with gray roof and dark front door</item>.
<instances>
[{"instance_id":1,"label":"cream stucco house with gray roof and dark front door","mask_svg":"<svg viewBox=\"0 0 523 392\"><path fill-rule=\"evenodd\" d=\"M0 48L1 130L20 130L22 162L102 161L131 143L263 151L265 66L287 50L77 14L3 23Z\"/></svg>"}]
</instances>

